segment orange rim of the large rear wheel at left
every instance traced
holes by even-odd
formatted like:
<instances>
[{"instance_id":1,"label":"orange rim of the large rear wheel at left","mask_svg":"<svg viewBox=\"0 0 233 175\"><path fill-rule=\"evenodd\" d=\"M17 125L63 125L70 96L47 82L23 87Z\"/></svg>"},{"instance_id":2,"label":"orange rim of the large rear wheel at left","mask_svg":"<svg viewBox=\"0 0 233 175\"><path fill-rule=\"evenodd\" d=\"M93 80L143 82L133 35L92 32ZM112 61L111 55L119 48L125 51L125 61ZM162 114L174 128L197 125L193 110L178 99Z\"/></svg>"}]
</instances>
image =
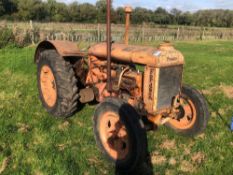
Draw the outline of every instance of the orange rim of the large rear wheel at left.
<instances>
[{"instance_id":1,"label":"orange rim of the large rear wheel at left","mask_svg":"<svg viewBox=\"0 0 233 175\"><path fill-rule=\"evenodd\" d=\"M40 87L44 101L49 107L53 107L57 101L57 88L53 72L47 65L41 68Z\"/></svg>"}]
</instances>

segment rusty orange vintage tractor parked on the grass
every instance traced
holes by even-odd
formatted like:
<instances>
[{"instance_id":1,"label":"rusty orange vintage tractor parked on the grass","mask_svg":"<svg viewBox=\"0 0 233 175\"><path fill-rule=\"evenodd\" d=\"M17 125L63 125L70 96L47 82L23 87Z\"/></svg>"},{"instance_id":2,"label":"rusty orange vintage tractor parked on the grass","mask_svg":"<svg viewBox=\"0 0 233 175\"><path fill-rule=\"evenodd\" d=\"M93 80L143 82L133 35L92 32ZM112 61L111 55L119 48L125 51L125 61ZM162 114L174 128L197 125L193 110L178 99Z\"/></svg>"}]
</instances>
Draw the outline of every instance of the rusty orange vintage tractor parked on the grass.
<instances>
[{"instance_id":1,"label":"rusty orange vintage tractor parked on the grass","mask_svg":"<svg viewBox=\"0 0 233 175\"><path fill-rule=\"evenodd\" d=\"M69 117L82 103L99 103L93 117L97 145L124 172L144 160L147 130L166 125L193 136L206 128L209 113L204 97L182 85L181 52L170 43L128 45L131 8L125 43L111 41L110 0L107 5L107 42L83 53L72 42L43 41L35 62L40 99L53 116Z\"/></svg>"}]
</instances>

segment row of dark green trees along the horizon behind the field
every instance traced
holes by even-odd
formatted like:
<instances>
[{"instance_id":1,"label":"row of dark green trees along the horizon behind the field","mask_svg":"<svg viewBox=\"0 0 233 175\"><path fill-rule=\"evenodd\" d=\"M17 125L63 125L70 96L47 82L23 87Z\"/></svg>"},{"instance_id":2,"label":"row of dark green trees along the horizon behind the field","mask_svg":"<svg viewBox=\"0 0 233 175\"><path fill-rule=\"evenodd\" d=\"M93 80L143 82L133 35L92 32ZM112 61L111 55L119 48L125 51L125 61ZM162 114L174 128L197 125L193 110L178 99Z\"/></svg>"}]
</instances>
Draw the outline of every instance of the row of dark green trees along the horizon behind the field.
<instances>
[{"instance_id":1,"label":"row of dark green trees along the horizon behind the field","mask_svg":"<svg viewBox=\"0 0 233 175\"><path fill-rule=\"evenodd\" d=\"M56 0L1 0L0 19L17 21L105 23L106 0L95 5L73 2L65 4ZM122 24L124 8L112 9L112 21ZM178 9L168 11L136 7L132 14L133 24L192 25L208 27L233 27L233 10L200 10L194 13Z\"/></svg>"}]
</instances>

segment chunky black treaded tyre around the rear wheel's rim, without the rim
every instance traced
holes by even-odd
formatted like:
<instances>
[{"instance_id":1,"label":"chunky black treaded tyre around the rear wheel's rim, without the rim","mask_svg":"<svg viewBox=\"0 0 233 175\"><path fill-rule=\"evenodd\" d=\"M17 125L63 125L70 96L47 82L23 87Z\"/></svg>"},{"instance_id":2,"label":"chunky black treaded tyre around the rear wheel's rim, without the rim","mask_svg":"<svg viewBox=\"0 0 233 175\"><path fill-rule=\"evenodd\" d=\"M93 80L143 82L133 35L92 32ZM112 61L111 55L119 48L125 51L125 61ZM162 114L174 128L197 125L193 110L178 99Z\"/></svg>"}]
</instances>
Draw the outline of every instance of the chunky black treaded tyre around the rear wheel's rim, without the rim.
<instances>
[{"instance_id":1,"label":"chunky black treaded tyre around the rear wheel's rim, without the rim","mask_svg":"<svg viewBox=\"0 0 233 175\"><path fill-rule=\"evenodd\" d=\"M58 90L57 105L53 109L49 109L46 104L44 104L45 102L43 101L42 94L40 94L43 105L47 111L55 117L66 118L71 116L77 110L78 106L78 82L75 78L72 65L64 60L56 50L43 51L38 63L38 68L42 66L40 65L42 62L48 62L52 66Z\"/></svg>"}]
</instances>

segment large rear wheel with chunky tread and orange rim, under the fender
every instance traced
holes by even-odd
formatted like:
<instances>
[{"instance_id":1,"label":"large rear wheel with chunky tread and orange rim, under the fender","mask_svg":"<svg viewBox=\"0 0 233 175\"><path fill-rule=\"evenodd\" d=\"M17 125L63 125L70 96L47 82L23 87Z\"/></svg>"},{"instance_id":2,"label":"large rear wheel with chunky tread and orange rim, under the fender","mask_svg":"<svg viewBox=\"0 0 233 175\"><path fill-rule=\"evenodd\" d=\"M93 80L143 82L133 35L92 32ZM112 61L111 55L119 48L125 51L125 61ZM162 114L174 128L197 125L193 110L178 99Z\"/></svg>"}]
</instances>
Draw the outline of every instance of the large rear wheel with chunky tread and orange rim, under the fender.
<instances>
[{"instance_id":1,"label":"large rear wheel with chunky tread and orange rim, under the fender","mask_svg":"<svg viewBox=\"0 0 233 175\"><path fill-rule=\"evenodd\" d=\"M55 50L41 53L37 65L39 97L55 117L69 117L77 110L78 88L72 65Z\"/></svg>"}]
</instances>

